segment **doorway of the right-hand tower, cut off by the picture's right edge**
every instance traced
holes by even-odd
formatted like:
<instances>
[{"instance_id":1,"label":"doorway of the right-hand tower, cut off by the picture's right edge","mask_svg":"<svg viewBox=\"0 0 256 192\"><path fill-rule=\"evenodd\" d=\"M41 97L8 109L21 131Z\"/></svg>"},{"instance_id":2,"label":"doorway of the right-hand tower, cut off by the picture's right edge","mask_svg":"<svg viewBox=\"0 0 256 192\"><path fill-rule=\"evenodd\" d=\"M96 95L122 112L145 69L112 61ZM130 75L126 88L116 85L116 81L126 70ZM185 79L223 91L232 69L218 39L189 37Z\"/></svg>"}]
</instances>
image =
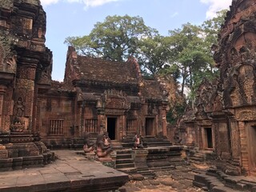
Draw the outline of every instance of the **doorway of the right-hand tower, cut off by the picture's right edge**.
<instances>
[{"instance_id":1,"label":"doorway of the right-hand tower, cut off by the picture's right edge","mask_svg":"<svg viewBox=\"0 0 256 192\"><path fill-rule=\"evenodd\" d=\"M247 126L247 147L249 154L250 172L256 171L256 126Z\"/></svg>"}]
</instances>

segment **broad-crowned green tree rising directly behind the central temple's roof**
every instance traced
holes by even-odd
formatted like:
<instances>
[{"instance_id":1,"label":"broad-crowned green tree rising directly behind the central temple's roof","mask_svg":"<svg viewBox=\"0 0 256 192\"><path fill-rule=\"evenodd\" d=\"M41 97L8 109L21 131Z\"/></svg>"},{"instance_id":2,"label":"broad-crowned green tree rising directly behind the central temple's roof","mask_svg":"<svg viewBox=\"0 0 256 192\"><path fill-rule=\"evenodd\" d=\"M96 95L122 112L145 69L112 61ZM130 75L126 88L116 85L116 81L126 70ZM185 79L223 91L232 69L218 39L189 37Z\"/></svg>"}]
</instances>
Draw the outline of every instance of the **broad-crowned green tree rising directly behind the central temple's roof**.
<instances>
[{"instance_id":1,"label":"broad-crowned green tree rising directly behind the central temple's roof","mask_svg":"<svg viewBox=\"0 0 256 192\"><path fill-rule=\"evenodd\" d=\"M140 39L155 34L158 31L146 26L138 16L114 15L97 22L89 35L68 37L65 42L74 46L79 54L122 62L138 53Z\"/></svg>"}]
</instances>

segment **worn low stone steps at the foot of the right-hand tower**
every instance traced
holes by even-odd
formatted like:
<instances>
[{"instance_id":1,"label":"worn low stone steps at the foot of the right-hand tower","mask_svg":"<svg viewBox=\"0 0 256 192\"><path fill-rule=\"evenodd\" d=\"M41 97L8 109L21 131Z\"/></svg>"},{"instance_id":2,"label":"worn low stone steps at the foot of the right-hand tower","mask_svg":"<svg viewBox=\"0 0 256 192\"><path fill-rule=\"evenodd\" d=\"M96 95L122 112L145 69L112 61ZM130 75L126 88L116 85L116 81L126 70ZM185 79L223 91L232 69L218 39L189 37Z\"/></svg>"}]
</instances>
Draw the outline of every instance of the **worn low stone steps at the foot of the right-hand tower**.
<instances>
[{"instance_id":1,"label":"worn low stone steps at the foot of the right-hand tower","mask_svg":"<svg viewBox=\"0 0 256 192\"><path fill-rule=\"evenodd\" d=\"M216 169L194 175L193 184L210 192L256 191L255 177L230 176Z\"/></svg>"}]
</instances>

